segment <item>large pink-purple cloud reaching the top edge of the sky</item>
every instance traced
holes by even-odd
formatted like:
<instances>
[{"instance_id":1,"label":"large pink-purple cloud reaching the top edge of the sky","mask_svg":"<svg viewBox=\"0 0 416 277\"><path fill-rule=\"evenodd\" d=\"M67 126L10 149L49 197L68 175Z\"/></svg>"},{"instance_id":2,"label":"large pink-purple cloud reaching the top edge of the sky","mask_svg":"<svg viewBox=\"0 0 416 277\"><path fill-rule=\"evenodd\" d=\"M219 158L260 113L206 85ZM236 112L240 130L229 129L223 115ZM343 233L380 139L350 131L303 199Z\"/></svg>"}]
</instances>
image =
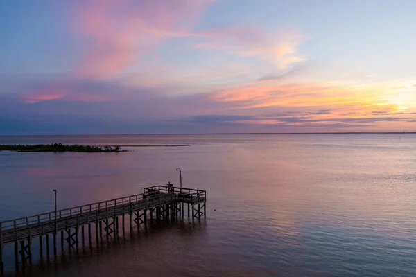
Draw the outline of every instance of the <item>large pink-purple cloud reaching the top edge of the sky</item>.
<instances>
[{"instance_id":1,"label":"large pink-purple cloud reaching the top edge of the sky","mask_svg":"<svg viewBox=\"0 0 416 277\"><path fill-rule=\"evenodd\" d=\"M170 34L186 33L212 0L91 0L77 32L91 40L80 75L108 77L135 65Z\"/></svg>"}]
</instances>

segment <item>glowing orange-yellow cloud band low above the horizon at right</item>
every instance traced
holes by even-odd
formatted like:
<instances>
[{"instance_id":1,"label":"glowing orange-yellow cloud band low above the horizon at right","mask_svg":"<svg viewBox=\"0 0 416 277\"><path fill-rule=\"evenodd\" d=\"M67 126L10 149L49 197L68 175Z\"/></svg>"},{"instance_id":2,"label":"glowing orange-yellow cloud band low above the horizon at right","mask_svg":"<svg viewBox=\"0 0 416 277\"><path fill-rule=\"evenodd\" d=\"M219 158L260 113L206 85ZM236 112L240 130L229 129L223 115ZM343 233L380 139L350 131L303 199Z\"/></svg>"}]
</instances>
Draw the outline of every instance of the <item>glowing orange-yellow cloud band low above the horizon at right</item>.
<instances>
[{"instance_id":1,"label":"glowing orange-yellow cloud band low above the horizon at right","mask_svg":"<svg viewBox=\"0 0 416 277\"><path fill-rule=\"evenodd\" d=\"M258 113L265 109L291 109L308 111L311 109L327 111L309 114L331 122L333 118L372 118L374 116L399 116L404 111L397 104L401 94L393 93L383 84L348 84L347 82L254 82L239 87L218 91L211 100L229 103L229 107ZM409 96L410 97L410 96ZM410 104L411 105L411 104ZM415 105L413 105L414 107ZM265 124L272 120L263 119ZM267 123L266 123L267 122ZM306 121L302 122L302 124Z\"/></svg>"}]
</instances>

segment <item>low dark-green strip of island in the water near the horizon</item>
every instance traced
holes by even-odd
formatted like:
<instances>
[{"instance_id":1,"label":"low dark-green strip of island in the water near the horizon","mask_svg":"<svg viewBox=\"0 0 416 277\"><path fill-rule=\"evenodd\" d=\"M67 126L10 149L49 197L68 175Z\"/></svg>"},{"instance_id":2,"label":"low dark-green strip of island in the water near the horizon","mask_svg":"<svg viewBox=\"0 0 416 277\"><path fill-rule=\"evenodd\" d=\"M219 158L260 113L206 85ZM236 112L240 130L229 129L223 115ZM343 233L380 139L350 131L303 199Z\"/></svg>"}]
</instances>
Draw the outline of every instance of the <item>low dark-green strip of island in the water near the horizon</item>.
<instances>
[{"instance_id":1,"label":"low dark-green strip of island in the water near the horizon","mask_svg":"<svg viewBox=\"0 0 416 277\"><path fill-rule=\"evenodd\" d=\"M62 143L37 145L0 145L0 151L17 152L128 152L121 150L121 146L91 146L91 145L64 145Z\"/></svg>"}]
</instances>

